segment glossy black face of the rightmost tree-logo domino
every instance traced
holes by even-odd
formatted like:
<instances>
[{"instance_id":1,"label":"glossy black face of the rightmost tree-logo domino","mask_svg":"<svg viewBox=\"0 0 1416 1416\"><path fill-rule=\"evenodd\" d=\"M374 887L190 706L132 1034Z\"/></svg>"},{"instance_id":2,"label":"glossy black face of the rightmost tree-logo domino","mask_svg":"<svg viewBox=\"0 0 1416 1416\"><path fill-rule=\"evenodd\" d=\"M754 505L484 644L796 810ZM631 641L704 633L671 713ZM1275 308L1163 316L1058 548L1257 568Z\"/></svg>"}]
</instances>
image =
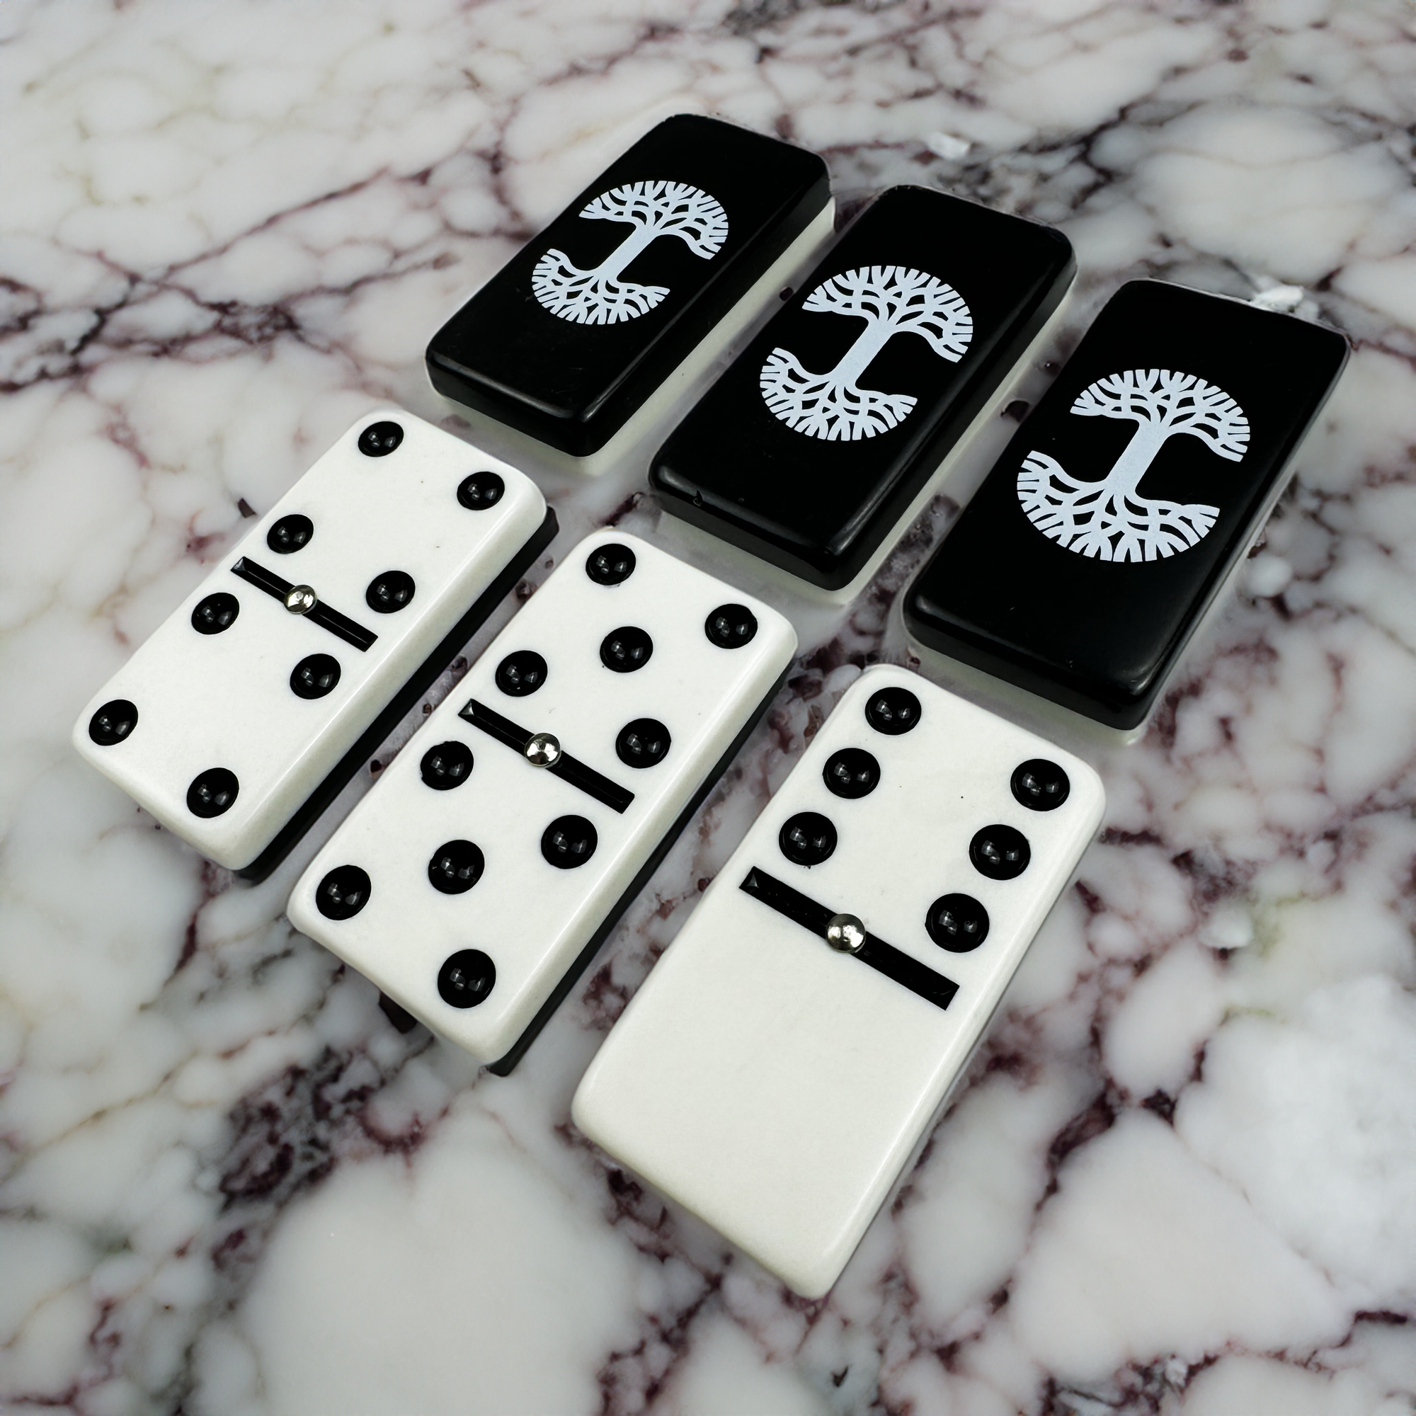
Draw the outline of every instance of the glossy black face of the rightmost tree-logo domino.
<instances>
[{"instance_id":1,"label":"glossy black face of the rightmost tree-logo domino","mask_svg":"<svg viewBox=\"0 0 1416 1416\"><path fill-rule=\"evenodd\" d=\"M910 588L909 627L1136 726L1345 361L1306 320L1123 286Z\"/></svg>"}]
</instances>

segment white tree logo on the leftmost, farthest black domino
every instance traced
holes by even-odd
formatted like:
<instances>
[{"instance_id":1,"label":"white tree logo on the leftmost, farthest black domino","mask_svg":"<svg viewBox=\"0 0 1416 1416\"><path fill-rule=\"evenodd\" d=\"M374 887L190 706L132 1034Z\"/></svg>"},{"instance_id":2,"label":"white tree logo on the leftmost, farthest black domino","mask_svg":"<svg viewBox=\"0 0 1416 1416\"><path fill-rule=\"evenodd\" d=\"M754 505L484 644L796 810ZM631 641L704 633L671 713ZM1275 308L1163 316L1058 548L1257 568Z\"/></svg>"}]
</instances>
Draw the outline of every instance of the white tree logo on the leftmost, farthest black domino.
<instances>
[{"instance_id":1,"label":"white tree logo on the leftmost, farthest black domino","mask_svg":"<svg viewBox=\"0 0 1416 1416\"><path fill-rule=\"evenodd\" d=\"M668 287L634 285L620 272L660 236L678 236L695 256L711 261L728 239L722 204L681 181L634 181L600 193L581 217L623 221L634 229L593 269L572 265L564 251L547 251L531 272L535 297L552 314L576 324L617 324L653 310Z\"/></svg>"}]
</instances>

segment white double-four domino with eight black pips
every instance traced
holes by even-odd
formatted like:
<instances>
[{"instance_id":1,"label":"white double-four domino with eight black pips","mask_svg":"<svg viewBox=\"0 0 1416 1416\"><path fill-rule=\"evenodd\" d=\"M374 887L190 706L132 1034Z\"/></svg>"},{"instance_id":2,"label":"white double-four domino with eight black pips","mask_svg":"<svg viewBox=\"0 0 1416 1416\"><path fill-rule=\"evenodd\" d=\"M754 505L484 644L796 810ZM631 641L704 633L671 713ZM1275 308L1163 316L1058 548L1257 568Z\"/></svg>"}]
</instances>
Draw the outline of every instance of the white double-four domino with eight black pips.
<instances>
[{"instance_id":1,"label":"white double-four domino with eight black pips","mask_svg":"<svg viewBox=\"0 0 1416 1416\"><path fill-rule=\"evenodd\" d=\"M103 685L74 745L263 879L555 534L535 484L398 408L361 418Z\"/></svg>"}]
</instances>

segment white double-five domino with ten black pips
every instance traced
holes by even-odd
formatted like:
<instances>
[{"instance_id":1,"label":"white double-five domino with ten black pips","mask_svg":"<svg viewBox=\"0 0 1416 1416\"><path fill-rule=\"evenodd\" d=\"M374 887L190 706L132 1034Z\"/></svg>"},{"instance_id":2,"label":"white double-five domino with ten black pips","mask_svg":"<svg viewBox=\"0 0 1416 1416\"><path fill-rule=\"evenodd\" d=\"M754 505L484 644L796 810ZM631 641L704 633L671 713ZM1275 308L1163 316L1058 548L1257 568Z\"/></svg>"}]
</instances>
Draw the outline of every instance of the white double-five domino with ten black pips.
<instances>
[{"instance_id":1,"label":"white double-five domino with ten black pips","mask_svg":"<svg viewBox=\"0 0 1416 1416\"><path fill-rule=\"evenodd\" d=\"M385 767L296 885L290 920L506 1075L794 651L766 605L596 532Z\"/></svg>"}]
</instances>

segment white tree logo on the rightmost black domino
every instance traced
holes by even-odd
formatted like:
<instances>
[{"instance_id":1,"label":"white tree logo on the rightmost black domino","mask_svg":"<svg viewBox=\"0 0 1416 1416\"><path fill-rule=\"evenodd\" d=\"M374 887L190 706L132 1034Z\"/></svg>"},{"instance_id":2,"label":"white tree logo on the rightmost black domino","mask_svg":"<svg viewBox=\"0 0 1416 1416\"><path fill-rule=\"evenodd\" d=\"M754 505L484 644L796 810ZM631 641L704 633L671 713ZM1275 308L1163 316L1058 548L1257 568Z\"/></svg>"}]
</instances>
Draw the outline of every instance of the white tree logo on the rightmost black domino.
<instances>
[{"instance_id":1,"label":"white tree logo on the rightmost black domino","mask_svg":"<svg viewBox=\"0 0 1416 1416\"><path fill-rule=\"evenodd\" d=\"M1150 501L1136 489L1177 433L1198 438L1226 462L1243 457L1249 419L1222 388L1168 368L1131 368L1089 384L1072 412L1127 418L1136 432L1100 481L1082 481L1046 453L1028 453L1018 500L1044 535L1102 561L1157 561L1188 551L1215 524L1218 507Z\"/></svg>"}]
</instances>

